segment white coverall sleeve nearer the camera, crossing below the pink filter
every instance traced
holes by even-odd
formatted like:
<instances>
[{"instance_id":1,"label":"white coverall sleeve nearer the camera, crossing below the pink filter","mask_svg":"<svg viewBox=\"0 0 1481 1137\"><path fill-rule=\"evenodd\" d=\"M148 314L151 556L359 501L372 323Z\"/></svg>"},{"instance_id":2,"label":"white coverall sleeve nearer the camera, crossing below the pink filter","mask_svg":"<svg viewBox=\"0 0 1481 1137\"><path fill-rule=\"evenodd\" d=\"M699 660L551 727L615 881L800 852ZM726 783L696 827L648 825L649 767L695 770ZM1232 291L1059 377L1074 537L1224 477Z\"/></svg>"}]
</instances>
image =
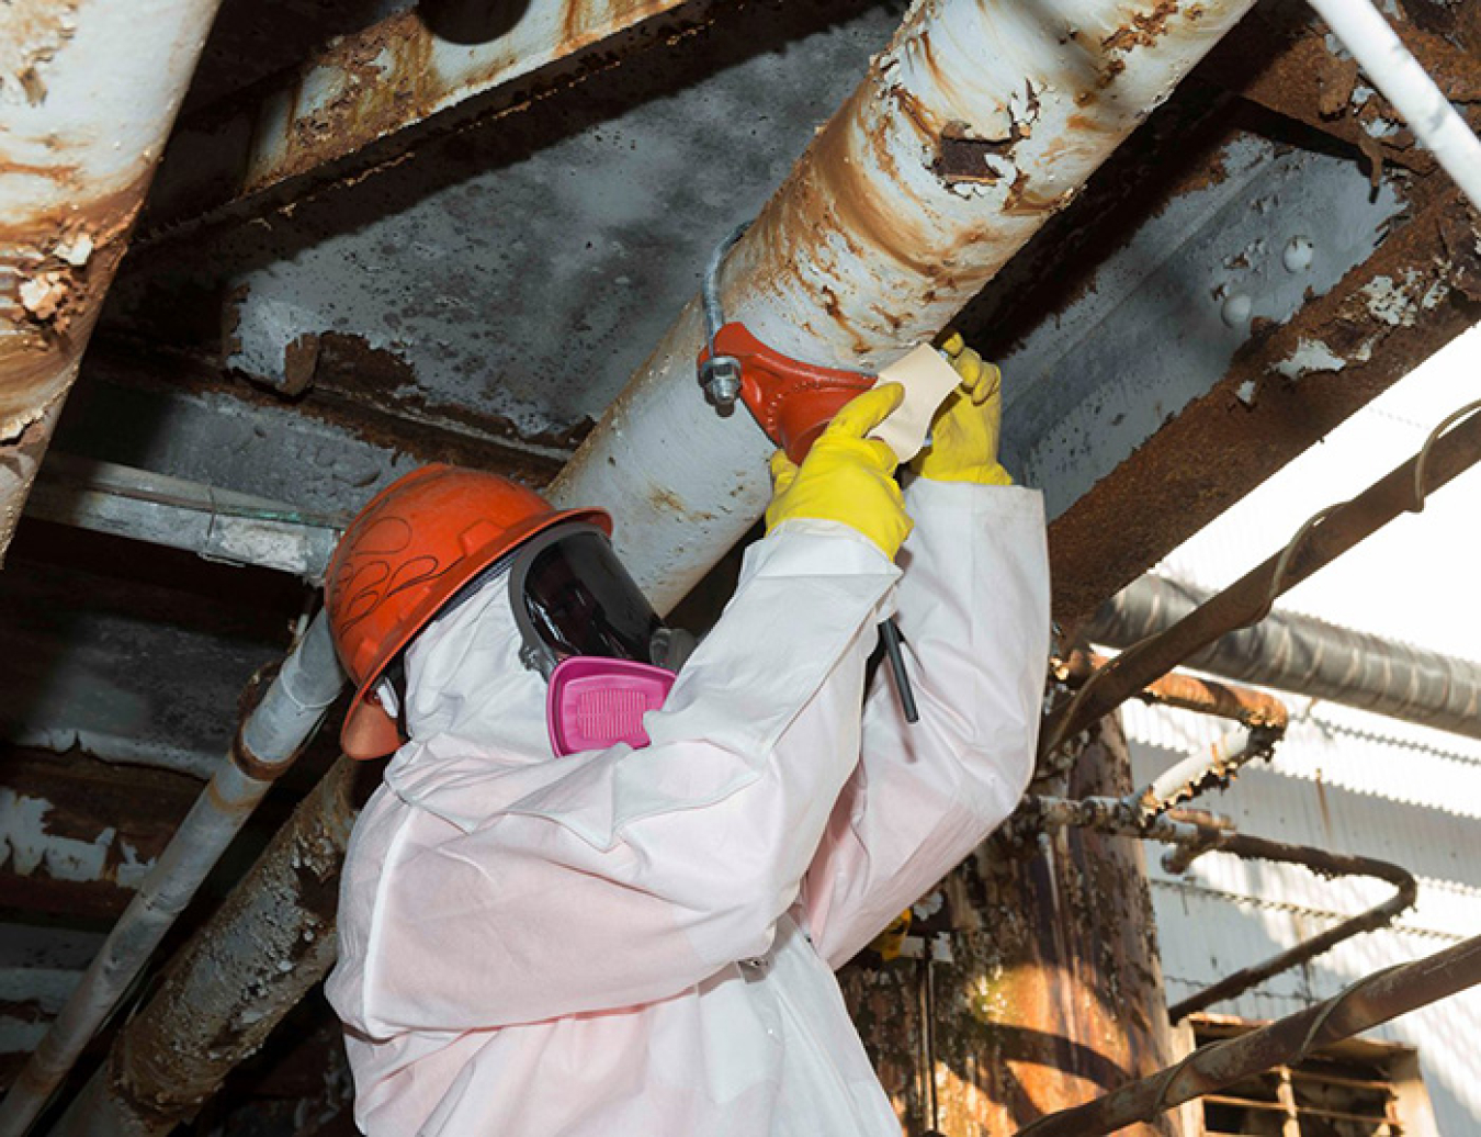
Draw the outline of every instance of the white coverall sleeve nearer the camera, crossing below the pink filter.
<instances>
[{"instance_id":1,"label":"white coverall sleeve nearer the camera, crossing below the pink filter","mask_svg":"<svg viewBox=\"0 0 1481 1137\"><path fill-rule=\"evenodd\" d=\"M863 667L899 572L810 526L754 547L653 740L385 858L360 1007L370 1036L674 996L764 955L857 763ZM350 1004L357 999L350 998Z\"/></svg>"}]
</instances>

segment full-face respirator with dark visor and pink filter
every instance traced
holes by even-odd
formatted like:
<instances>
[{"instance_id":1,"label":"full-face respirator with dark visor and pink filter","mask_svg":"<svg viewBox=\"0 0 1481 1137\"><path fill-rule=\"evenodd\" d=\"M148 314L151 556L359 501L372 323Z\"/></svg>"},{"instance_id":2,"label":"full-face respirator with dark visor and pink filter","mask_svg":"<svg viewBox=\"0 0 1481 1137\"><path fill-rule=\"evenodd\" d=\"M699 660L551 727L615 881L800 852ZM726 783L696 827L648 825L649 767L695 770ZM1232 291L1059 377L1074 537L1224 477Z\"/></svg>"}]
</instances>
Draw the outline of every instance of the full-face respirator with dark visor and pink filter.
<instances>
[{"instance_id":1,"label":"full-face respirator with dark visor and pink filter","mask_svg":"<svg viewBox=\"0 0 1481 1137\"><path fill-rule=\"evenodd\" d=\"M509 565L520 660L548 682L557 755L647 746L643 715L663 706L695 640L663 626L595 525L560 525Z\"/></svg>"}]
</instances>

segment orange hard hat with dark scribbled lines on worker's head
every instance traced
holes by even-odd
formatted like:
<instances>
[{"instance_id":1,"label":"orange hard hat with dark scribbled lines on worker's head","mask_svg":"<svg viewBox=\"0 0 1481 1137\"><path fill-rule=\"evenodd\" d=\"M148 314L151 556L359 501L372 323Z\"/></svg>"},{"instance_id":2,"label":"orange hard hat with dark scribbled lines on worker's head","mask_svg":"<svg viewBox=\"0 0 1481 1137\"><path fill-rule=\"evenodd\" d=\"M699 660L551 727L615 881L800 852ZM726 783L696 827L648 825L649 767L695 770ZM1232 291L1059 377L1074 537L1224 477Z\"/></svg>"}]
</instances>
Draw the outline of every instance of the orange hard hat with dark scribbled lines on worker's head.
<instances>
[{"instance_id":1,"label":"orange hard hat with dark scribbled lines on worker's head","mask_svg":"<svg viewBox=\"0 0 1481 1137\"><path fill-rule=\"evenodd\" d=\"M381 758L404 740L373 688L392 660L495 560L552 525L601 510L555 510L518 482L453 465L424 465L355 514L324 574L335 649L355 685L339 734L350 758Z\"/></svg>"}]
</instances>

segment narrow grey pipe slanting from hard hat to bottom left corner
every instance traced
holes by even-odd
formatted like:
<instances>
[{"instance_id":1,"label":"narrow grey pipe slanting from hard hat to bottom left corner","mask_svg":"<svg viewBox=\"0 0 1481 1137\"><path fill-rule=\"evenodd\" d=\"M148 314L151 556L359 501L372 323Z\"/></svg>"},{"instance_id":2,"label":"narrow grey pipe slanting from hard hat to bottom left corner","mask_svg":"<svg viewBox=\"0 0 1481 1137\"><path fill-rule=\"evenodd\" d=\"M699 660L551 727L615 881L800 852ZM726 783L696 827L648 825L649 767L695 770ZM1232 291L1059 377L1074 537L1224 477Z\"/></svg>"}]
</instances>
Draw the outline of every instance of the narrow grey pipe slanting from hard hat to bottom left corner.
<instances>
[{"instance_id":1,"label":"narrow grey pipe slanting from hard hat to bottom left corner","mask_svg":"<svg viewBox=\"0 0 1481 1137\"><path fill-rule=\"evenodd\" d=\"M22 1137L67 1078L83 1047L118 1005L154 949L195 895L237 830L314 734L344 686L320 612L154 869L139 885L73 996L0 1103L0 1137Z\"/></svg>"}]
</instances>

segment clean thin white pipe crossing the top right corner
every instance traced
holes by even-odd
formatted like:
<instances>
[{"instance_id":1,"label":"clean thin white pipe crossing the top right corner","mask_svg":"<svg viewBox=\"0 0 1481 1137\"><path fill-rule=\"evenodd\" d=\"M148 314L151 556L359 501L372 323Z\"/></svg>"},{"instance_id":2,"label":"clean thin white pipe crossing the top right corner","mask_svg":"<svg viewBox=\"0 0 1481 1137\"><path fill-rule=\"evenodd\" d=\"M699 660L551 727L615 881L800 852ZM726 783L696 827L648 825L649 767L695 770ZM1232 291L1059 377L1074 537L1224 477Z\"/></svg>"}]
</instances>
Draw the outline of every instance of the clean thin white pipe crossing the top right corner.
<instances>
[{"instance_id":1,"label":"clean thin white pipe crossing the top right corner","mask_svg":"<svg viewBox=\"0 0 1481 1137\"><path fill-rule=\"evenodd\" d=\"M1420 142L1481 211L1481 141L1371 0L1309 0Z\"/></svg>"}]
</instances>

